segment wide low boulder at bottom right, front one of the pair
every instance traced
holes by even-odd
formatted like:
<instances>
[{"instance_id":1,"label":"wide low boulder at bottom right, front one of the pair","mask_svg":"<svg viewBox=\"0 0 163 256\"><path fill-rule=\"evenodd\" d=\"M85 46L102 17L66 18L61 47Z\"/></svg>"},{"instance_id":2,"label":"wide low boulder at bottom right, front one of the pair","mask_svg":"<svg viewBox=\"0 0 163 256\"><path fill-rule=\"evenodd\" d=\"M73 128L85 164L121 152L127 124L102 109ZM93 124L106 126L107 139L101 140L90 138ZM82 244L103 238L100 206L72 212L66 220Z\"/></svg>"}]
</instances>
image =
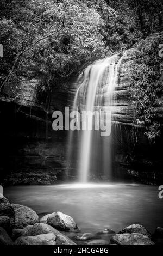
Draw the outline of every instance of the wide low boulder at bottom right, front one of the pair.
<instances>
[{"instance_id":1,"label":"wide low boulder at bottom right, front one of the pair","mask_svg":"<svg viewBox=\"0 0 163 256\"><path fill-rule=\"evenodd\" d=\"M154 245L148 236L141 233L116 234L111 237L110 242L117 245Z\"/></svg>"}]
</instances>

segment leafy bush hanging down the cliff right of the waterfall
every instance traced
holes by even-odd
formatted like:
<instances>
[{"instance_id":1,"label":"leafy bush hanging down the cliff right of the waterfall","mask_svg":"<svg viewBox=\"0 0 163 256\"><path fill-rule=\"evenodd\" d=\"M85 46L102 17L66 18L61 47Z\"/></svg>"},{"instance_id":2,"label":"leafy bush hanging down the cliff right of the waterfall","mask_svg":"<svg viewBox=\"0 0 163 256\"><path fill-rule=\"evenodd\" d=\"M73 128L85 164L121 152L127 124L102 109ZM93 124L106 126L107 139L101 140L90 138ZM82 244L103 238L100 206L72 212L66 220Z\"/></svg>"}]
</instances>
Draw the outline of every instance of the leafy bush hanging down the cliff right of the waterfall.
<instances>
[{"instance_id":1,"label":"leafy bush hanging down the cliff right of the waterfall","mask_svg":"<svg viewBox=\"0 0 163 256\"><path fill-rule=\"evenodd\" d=\"M161 42L159 35L141 40L135 48L130 68L131 96L138 117L136 123L146 126L145 134L153 142L160 135L157 107L163 89L160 80L162 58L158 54Z\"/></svg>"}]
</instances>

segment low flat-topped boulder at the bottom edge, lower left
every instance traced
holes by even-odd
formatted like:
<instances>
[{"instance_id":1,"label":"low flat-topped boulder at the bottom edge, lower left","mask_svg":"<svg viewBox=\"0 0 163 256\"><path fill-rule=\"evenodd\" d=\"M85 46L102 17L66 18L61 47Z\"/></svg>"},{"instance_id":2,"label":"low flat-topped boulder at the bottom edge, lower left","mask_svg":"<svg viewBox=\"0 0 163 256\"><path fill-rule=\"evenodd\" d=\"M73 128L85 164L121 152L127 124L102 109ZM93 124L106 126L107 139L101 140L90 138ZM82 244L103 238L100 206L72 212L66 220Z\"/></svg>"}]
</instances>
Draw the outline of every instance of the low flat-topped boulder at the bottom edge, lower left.
<instances>
[{"instance_id":1,"label":"low flat-topped boulder at the bottom edge, lower left","mask_svg":"<svg viewBox=\"0 0 163 256\"><path fill-rule=\"evenodd\" d=\"M21 236L16 239L14 245L56 245L55 235L53 233L36 235L36 236Z\"/></svg>"}]
</instances>

